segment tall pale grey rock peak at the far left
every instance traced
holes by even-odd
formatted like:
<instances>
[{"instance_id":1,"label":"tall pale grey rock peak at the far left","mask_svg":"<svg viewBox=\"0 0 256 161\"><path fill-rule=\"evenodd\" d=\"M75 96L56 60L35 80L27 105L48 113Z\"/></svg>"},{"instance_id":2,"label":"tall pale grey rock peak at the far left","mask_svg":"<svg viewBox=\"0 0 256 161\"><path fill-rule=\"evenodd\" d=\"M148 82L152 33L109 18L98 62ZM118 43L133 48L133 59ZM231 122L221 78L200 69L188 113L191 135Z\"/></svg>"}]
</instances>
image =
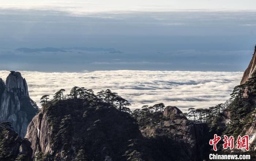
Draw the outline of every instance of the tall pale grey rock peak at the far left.
<instances>
[{"instance_id":1,"label":"tall pale grey rock peak at the far left","mask_svg":"<svg viewBox=\"0 0 256 161\"><path fill-rule=\"evenodd\" d=\"M32 105L33 101L29 97L26 80L20 72L11 71L5 85L3 80L0 80L0 95L0 122L12 123L14 131L24 137L27 126L37 113L38 107Z\"/></svg>"}]
</instances>

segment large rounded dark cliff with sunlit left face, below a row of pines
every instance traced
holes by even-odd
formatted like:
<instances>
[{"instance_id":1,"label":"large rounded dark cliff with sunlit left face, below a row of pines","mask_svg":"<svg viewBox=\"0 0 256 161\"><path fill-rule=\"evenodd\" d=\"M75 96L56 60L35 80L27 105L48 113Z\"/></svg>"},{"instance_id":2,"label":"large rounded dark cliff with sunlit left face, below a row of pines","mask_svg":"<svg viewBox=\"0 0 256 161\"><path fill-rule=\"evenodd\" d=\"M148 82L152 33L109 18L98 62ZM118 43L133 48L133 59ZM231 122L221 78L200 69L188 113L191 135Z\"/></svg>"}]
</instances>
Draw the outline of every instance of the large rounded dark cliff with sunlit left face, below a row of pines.
<instances>
[{"instance_id":1,"label":"large rounded dark cliff with sunlit left face, below a row of pines","mask_svg":"<svg viewBox=\"0 0 256 161\"><path fill-rule=\"evenodd\" d=\"M33 118L25 138L33 156L55 160L125 160L128 140L140 134L135 120L109 104L68 99L48 102Z\"/></svg>"}]
</instances>

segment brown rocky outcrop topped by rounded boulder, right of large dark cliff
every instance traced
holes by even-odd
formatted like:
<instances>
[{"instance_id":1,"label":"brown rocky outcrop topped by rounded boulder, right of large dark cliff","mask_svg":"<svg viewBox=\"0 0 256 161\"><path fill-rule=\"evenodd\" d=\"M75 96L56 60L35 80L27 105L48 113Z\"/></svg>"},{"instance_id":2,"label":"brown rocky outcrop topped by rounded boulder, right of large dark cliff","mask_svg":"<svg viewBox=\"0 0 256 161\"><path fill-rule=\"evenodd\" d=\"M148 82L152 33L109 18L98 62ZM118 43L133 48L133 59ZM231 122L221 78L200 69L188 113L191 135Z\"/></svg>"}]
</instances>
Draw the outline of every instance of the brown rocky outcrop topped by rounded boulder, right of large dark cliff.
<instances>
[{"instance_id":1,"label":"brown rocky outcrop topped by rounded boulder, right of large dark cliff","mask_svg":"<svg viewBox=\"0 0 256 161\"><path fill-rule=\"evenodd\" d=\"M173 118L170 119L169 116ZM156 126L147 126L142 129L143 136L169 136L178 142L185 142L189 145L188 155L197 157L195 160L203 157L203 152L207 149L208 142L208 125L207 123L199 123L188 120L180 109L176 106L167 106L163 111L163 117L169 119L159 122ZM199 157L199 158L198 158Z\"/></svg>"}]
</instances>

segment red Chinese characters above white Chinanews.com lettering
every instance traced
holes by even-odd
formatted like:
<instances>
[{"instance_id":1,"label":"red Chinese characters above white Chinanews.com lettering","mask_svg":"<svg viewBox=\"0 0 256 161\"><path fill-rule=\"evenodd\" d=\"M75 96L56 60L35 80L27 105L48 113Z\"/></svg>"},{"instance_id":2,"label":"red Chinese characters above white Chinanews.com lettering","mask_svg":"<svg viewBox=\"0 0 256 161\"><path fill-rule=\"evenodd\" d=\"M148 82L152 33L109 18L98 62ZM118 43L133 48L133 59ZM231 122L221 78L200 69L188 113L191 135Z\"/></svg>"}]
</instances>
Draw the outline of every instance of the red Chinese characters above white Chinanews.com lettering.
<instances>
[{"instance_id":1,"label":"red Chinese characters above white Chinanews.com lettering","mask_svg":"<svg viewBox=\"0 0 256 161\"><path fill-rule=\"evenodd\" d=\"M214 134L214 138L209 141L209 144L213 146L213 150L217 152L217 144L221 141L221 137L217 134ZM226 136L224 135L222 144L223 149L240 149L242 151L246 150L249 151L249 136L238 136L236 140L236 146L234 145L234 137L233 136ZM210 160L250 160L250 155L235 155L235 154L226 154L226 155L218 155L218 154L210 154L209 155Z\"/></svg>"}]
</instances>

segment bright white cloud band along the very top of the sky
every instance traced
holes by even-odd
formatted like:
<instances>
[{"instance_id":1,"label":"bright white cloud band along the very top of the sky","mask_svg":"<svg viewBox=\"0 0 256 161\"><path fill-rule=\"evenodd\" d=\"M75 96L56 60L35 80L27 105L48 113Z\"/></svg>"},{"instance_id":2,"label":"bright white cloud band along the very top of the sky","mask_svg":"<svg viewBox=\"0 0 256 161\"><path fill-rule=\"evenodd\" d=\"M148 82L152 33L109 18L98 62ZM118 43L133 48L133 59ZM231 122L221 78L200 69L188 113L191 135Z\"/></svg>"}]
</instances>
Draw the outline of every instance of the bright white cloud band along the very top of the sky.
<instances>
[{"instance_id":1,"label":"bright white cloud band along the very top of the sky","mask_svg":"<svg viewBox=\"0 0 256 161\"><path fill-rule=\"evenodd\" d=\"M104 11L173 11L173 10L254 10L254 0L73 0L71 1L34 1L34 0L0 0L2 8L56 9L75 14Z\"/></svg>"}]
</instances>

